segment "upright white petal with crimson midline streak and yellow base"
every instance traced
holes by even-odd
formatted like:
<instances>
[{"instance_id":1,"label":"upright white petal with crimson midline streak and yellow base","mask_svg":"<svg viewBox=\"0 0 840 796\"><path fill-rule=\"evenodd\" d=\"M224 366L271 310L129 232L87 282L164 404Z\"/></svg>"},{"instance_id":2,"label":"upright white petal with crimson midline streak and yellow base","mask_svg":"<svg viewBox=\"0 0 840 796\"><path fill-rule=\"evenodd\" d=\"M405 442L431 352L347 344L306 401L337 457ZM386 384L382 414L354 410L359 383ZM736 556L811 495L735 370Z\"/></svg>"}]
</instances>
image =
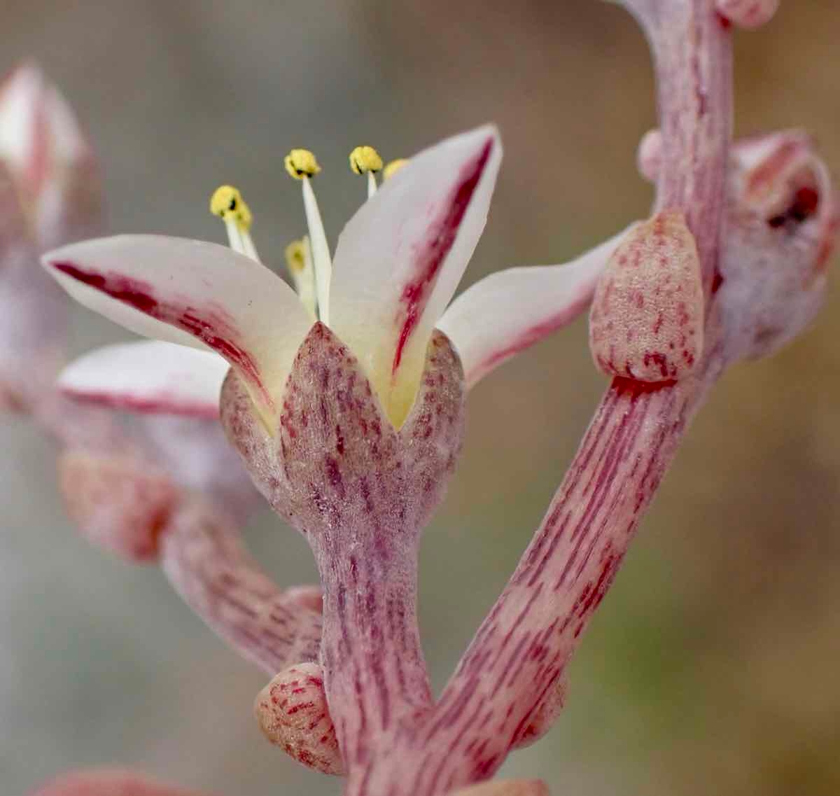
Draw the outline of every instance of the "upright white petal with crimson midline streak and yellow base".
<instances>
[{"instance_id":1,"label":"upright white petal with crimson midline streak and yellow base","mask_svg":"<svg viewBox=\"0 0 840 796\"><path fill-rule=\"evenodd\" d=\"M360 359L388 416L402 423L429 335L478 243L501 161L483 127L418 154L341 233L330 326Z\"/></svg>"}]
</instances>

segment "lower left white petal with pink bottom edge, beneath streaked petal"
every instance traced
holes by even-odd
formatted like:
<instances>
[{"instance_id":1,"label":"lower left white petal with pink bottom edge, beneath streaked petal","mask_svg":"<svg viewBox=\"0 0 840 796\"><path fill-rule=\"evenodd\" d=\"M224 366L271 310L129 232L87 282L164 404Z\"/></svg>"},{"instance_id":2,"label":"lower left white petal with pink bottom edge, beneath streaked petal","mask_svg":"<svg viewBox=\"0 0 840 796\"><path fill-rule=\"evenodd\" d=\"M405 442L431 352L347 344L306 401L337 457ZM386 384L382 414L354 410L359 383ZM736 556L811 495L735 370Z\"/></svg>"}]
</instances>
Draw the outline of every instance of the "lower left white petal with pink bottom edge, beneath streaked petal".
<instances>
[{"instance_id":1,"label":"lower left white petal with pink bottom edge, beneath streaked petal","mask_svg":"<svg viewBox=\"0 0 840 796\"><path fill-rule=\"evenodd\" d=\"M125 411L218 417L228 363L212 351L159 343L97 348L60 374L62 392Z\"/></svg>"}]
</instances>

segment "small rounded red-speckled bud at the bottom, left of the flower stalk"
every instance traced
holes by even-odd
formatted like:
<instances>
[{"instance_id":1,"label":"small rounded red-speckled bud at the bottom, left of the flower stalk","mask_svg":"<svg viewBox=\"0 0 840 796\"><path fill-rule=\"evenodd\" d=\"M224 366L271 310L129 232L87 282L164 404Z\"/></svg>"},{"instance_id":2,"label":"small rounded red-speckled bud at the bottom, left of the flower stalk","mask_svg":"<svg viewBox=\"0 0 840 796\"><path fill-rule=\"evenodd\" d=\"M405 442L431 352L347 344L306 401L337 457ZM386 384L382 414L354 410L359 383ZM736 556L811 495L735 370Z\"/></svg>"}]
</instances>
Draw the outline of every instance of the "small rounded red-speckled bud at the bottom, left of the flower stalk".
<instances>
[{"instance_id":1,"label":"small rounded red-speckled bud at the bottom, left of the flower stalk","mask_svg":"<svg viewBox=\"0 0 840 796\"><path fill-rule=\"evenodd\" d=\"M344 773L317 663L277 674L257 694L254 714L265 737L297 762L325 774Z\"/></svg>"}]
</instances>

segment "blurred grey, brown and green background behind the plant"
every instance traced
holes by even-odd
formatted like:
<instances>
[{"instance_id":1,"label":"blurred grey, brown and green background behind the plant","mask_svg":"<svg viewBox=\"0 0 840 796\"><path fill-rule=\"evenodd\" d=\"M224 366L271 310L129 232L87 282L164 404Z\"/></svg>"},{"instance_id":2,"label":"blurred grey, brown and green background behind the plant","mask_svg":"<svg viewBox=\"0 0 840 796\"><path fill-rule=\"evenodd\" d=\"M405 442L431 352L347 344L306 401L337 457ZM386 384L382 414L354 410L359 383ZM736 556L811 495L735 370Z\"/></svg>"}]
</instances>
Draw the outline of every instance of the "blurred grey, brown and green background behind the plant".
<instances>
[{"instance_id":1,"label":"blurred grey, brown and green background behind the plant","mask_svg":"<svg viewBox=\"0 0 840 796\"><path fill-rule=\"evenodd\" d=\"M840 171L837 4L782 5L736 36L738 134L802 126ZM507 157L466 284L568 259L651 200L634 165L654 123L648 53L627 14L595 0L6 0L0 69L28 57L87 124L114 231L222 242L207 197L229 181L281 264L304 223L281 162L292 146L318 154L334 239L365 190L354 145L388 160L488 120ZM81 308L75 325L77 352L124 337ZM805 338L727 374L585 637L568 710L504 773L570 796L840 793L838 335L835 292ZM470 395L465 454L423 543L438 687L603 387L580 320ZM262 739L251 703L265 678L159 571L76 537L45 438L3 417L0 451L0 790L120 762L226 796L337 793ZM249 544L282 583L314 578L267 512Z\"/></svg>"}]
</instances>

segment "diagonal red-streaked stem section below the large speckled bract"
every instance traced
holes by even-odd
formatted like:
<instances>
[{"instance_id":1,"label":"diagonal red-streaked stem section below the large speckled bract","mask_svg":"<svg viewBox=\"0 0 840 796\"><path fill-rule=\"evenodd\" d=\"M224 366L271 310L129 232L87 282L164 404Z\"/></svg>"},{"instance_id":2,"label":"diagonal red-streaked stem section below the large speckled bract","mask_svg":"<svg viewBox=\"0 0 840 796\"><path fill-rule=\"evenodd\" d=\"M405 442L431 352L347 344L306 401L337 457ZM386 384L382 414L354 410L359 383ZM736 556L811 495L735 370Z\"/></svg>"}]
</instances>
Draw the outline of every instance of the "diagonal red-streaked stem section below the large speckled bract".
<instances>
[{"instance_id":1,"label":"diagonal red-streaked stem section below the large speckled bract","mask_svg":"<svg viewBox=\"0 0 840 796\"><path fill-rule=\"evenodd\" d=\"M701 376L677 385L612 383L507 588L433 712L386 755L399 757L398 769L369 775L370 793L433 796L501 766L557 687L721 369L715 352Z\"/></svg>"}]
</instances>

